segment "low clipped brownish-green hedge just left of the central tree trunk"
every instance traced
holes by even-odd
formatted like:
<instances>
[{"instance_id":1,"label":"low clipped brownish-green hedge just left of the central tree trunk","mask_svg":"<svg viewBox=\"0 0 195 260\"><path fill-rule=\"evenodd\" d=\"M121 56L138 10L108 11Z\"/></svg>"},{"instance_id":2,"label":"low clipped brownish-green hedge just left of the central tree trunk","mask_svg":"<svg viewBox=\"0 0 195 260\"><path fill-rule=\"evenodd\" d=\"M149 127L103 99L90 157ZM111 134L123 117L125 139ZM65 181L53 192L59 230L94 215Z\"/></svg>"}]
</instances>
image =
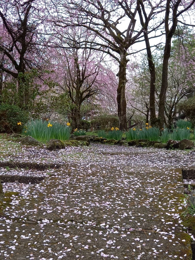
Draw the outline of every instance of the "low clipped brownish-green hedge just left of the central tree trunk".
<instances>
[{"instance_id":1,"label":"low clipped brownish-green hedge just left of the central tree trunk","mask_svg":"<svg viewBox=\"0 0 195 260\"><path fill-rule=\"evenodd\" d=\"M108 131L112 127L119 127L118 116L96 116L94 120L91 121L94 131L105 130Z\"/></svg>"}]
</instances>

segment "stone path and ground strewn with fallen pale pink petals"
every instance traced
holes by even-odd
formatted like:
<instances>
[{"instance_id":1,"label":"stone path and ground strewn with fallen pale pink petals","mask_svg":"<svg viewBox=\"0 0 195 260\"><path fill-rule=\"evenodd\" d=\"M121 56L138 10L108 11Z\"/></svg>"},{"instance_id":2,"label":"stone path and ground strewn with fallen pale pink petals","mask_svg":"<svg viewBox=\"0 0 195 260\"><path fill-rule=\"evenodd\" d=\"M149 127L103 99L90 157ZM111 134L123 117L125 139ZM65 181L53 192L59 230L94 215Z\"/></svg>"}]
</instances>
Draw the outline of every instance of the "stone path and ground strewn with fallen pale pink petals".
<instances>
[{"instance_id":1,"label":"stone path and ground strewn with fallen pale pink petals","mask_svg":"<svg viewBox=\"0 0 195 260\"><path fill-rule=\"evenodd\" d=\"M1 168L1 175L43 176L18 191L0 218L0 259L190 259L180 218L181 169L194 150L92 144L50 152L1 139L5 161L56 169Z\"/></svg>"}]
</instances>

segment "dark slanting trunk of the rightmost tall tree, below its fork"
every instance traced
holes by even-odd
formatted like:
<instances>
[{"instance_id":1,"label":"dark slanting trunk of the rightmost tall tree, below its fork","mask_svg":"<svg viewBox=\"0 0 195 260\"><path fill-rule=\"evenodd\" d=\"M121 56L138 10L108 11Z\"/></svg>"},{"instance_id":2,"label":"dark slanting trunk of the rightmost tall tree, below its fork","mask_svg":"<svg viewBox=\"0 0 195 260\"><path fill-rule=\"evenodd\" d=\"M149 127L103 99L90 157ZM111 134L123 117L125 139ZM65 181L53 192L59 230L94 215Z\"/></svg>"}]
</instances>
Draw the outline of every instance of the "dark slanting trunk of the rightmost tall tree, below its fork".
<instances>
[{"instance_id":1,"label":"dark slanting trunk of the rightmost tall tree, below its fork","mask_svg":"<svg viewBox=\"0 0 195 260\"><path fill-rule=\"evenodd\" d=\"M159 117L159 128L164 128L164 111L165 111L165 98L166 91L168 87L168 62L171 51L171 37L166 38L164 56L163 56L163 66L162 66L162 82L159 95L159 108L158 108L158 117Z\"/></svg>"}]
</instances>

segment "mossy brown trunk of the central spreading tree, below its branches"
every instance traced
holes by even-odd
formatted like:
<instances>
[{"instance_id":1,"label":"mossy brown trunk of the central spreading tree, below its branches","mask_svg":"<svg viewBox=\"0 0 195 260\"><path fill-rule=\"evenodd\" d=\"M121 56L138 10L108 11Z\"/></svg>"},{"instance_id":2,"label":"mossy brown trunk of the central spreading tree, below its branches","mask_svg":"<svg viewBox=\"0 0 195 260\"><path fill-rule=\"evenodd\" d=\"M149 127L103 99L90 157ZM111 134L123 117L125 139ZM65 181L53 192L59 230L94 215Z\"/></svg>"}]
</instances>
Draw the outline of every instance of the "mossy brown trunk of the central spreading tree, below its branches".
<instances>
[{"instance_id":1,"label":"mossy brown trunk of the central spreading tree, below its branches","mask_svg":"<svg viewBox=\"0 0 195 260\"><path fill-rule=\"evenodd\" d=\"M127 66L126 53L122 53L120 57L120 65L118 71L118 88L117 88L117 103L118 103L118 117L119 117L119 128L120 130L127 130L127 117L126 108L127 103L125 99L125 86L127 83L126 78L126 66Z\"/></svg>"}]
</instances>

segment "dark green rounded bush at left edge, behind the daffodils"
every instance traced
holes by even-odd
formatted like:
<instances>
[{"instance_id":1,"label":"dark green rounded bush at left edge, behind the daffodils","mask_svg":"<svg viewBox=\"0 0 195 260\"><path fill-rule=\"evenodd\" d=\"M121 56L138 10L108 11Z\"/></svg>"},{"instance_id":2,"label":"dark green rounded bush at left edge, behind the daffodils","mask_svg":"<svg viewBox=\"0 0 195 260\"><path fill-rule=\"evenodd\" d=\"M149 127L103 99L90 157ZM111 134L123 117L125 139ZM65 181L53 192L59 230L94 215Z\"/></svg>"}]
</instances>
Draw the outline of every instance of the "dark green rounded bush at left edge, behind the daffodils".
<instances>
[{"instance_id":1,"label":"dark green rounded bush at left edge, behind the daffodils","mask_svg":"<svg viewBox=\"0 0 195 260\"><path fill-rule=\"evenodd\" d=\"M18 106L0 105L0 133L21 133L23 125L17 123L26 123L27 120L27 112L22 111Z\"/></svg>"}]
</instances>

